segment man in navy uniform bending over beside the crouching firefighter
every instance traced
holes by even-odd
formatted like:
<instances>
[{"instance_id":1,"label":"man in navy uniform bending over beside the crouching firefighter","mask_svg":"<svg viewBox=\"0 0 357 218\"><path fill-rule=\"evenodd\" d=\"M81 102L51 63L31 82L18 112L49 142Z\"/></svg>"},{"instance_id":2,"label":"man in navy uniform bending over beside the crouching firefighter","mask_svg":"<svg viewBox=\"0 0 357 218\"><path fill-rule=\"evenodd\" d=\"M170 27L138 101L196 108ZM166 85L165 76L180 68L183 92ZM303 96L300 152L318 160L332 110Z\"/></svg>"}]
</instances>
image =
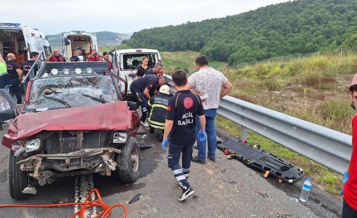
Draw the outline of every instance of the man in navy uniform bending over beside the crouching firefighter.
<instances>
[{"instance_id":1,"label":"man in navy uniform bending over beside the crouching firefighter","mask_svg":"<svg viewBox=\"0 0 357 218\"><path fill-rule=\"evenodd\" d=\"M158 86L164 85L167 83L166 76L155 76L147 75L140 77L131 82L130 92L137 99L137 103L141 106L141 124L145 127L149 127L148 122L146 121L146 115L148 112L148 100L150 99L150 93L153 93Z\"/></svg>"}]
</instances>

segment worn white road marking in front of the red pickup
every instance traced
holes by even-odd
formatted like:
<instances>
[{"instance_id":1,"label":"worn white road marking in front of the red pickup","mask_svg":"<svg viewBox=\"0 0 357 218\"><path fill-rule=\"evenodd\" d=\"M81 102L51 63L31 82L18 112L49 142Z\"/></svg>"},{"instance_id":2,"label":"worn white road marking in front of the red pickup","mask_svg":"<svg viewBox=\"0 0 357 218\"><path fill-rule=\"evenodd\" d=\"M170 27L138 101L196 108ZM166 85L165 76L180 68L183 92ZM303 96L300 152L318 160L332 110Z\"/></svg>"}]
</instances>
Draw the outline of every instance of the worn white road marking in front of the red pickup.
<instances>
[{"instance_id":1,"label":"worn white road marking in front of the red pickup","mask_svg":"<svg viewBox=\"0 0 357 218\"><path fill-rule=\"evenodd\" d=\"M93 175L83 175L76 177L74 182L74 202L84 202L87 195L94 188ZM89 200L95 200L96 195L93 193ZM80 209L81 205L74 206L74 212ZM90 210L84 211L84 217L95 217L97 215L97 208L92 207ZM77 216L78 217L78 216Z\"/></svg>"}]
</instances>

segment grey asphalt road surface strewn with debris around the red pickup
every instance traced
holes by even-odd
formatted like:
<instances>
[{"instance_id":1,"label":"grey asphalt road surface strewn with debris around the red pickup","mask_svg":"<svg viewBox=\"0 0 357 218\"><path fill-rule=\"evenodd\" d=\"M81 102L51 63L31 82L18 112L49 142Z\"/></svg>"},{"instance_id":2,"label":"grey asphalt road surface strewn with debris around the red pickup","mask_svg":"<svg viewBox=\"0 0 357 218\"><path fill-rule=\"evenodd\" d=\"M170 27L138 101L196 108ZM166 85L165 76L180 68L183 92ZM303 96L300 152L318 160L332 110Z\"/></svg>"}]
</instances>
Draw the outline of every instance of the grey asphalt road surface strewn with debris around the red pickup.
<instances>
[{"instance_id":1,"label":"grey asphalt road surface strewn with debris around the red pickup","mask_svg":"<svg viewBox=\"0 0 357 218\"><path fill-rule=\"evenodd\" d=\"M7 126L0 132L3 136ZM237 160L228 160L216 151L216 161L206 164L192 162L189 182L195 194L186 201L178 200L172 172L167 167L167 153L161 150L156 134L141 127L140 143L153 143L155 147L142 150L142 177L133 184L123 184L113 177L81 176L57 179L53 184L37 187L37 194L24 200L13 200L7 182L9 149L0 147L0 204L49 204L74 202L85 198L97 188L108 205L123 203L127 217L339 217L342 201L313 187L307 204L298 199L303 180L296 184L279 184L276 178L265 179L263 173L253 170ZM224 139L231 136L219 133ZM194 153L197 151L194 150ZM313 181L314 183L314 181ZM134 196L141 198L128 204ZM78 207L59 208L1 208L2 217L71 217ZM99 209L98 209L99 210ZM87 212L94 217L98 210ZM110 217L122 217L116 208Z\"/></svg>"}]
</instances>

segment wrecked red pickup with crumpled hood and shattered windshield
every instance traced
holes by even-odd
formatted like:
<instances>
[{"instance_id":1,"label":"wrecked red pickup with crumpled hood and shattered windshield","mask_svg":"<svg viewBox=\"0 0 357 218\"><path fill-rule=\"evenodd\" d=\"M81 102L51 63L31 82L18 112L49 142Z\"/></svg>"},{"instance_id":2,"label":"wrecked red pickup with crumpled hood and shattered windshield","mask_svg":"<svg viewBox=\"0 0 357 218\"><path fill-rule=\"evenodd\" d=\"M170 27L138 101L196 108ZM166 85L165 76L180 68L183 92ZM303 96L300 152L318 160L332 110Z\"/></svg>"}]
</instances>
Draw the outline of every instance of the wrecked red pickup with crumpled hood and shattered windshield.
<instances>
[{"instance_id":1,"label":"wrecked red pickup with crumpled hood and shattered windshield","mask_svg":"<svg viewBox=\"0 0 357 218\"><path fill-rule=\"evenodd\" d=\"M117 82L125 81L105 70L106 62L46 63L28 82L21 110L2 112L14 118L2 142L10 148L12 198L62 177L140 177L136 103L122 99Z\"/></svg>"}]
</instances>

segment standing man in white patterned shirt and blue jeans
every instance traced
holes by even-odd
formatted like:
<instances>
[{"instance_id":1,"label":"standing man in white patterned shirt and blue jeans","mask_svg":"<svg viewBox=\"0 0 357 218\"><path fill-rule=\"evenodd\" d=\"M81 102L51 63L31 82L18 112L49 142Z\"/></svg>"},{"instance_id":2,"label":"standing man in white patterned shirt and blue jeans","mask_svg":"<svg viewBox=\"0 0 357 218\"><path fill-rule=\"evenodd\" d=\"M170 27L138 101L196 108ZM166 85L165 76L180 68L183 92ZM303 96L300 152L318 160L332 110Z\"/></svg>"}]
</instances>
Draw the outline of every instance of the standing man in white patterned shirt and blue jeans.
<instances>
[{"instance_id":1,"label":"standing man in white patterned shirt and blue jeans","mask_svg":"<svg viewBox=\"0 0 357 218\"><path fill-rule=\"evenodd\" d=\"M232 89L232 84L223 73L208 67L206 56L198 56L195 62L198 71L189 77L187 88L193 89L194 93L200 95L202 98L204 115L206 117L207 155L210 160L214 161L217 146L217 136L214 127L217 108L220 98L228 94ZM196 117L197 121L198 117ZM197 124L196 134L198 134L199 130L200 125ZM192 161L206 163L206 141L199 142L197 140L197 148L198 155Z\"/></svg>"}]
</instances>

